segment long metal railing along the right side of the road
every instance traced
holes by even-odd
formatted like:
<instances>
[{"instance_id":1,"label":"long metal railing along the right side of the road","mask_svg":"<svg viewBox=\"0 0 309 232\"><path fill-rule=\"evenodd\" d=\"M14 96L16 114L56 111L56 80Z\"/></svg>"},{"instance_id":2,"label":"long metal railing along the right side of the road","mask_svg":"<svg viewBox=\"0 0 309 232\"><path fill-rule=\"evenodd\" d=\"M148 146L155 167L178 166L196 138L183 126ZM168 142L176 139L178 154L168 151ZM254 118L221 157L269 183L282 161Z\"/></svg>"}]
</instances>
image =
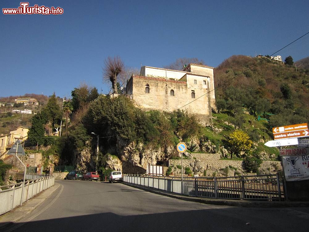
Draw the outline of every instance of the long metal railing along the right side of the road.
<instances>
[{"instance_id":1,"label":"long metal railing along the right side of the road","mask_svg":"<svg viewBox=\"0 0 309 232\"><path fill-rule=\"evenodd\" d=\"M123 181L188 196L234 200L284 200L279 175L169 177L124 174Z\"/></svg>"}]
</instances>

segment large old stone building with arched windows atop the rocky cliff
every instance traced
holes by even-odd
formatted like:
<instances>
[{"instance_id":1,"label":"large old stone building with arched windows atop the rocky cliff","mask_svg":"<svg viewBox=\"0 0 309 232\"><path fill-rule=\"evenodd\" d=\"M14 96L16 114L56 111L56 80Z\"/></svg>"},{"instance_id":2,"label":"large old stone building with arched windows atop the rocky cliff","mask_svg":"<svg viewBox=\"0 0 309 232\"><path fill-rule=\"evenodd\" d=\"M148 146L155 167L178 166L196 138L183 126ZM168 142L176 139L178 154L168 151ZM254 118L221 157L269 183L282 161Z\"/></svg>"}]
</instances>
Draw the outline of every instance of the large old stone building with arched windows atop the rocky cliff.
<instances>
[{"instance_id":1,"label":"large old stone building with arched windows atop the rocky cliff","mask_svg":"<svg viewBox=\"0 0 309 232\"><path fill-rule=\"evenodd\" d=\"M143 66L140 75L128 80L126 93L143 109L189 110L205 122L215 107L214 68L189 64L178 71Z\"/></svg>"}]
</instances>

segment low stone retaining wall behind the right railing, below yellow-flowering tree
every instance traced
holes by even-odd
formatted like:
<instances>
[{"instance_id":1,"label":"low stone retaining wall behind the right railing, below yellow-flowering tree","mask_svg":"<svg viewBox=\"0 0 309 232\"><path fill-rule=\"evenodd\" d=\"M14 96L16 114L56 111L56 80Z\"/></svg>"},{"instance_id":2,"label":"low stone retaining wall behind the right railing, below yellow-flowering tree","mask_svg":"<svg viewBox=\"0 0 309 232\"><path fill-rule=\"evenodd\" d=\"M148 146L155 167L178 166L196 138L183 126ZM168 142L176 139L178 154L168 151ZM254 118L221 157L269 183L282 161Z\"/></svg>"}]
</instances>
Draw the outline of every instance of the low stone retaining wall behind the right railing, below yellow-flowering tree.
<instances>
[{"instance_id":1,"label":"low stone retaining wall behind the right railing, below yellow-flowering tree","mask_svg":"<svg viewBox=\"0 0 309 232\"><path fill-rule=\"evenodd\" d=\"M220 160L219 154L191 154L192 157L196 159L183 159L184 167L201 167L202 170L219 170L221 168L226 168L226 166L232 166L239 170L242 170L242 161L241 160ZM277 164L279 170L282 169L280 161L263 161L261 164L261 168L273 170L271 164ZM176 166L181 165L181 160L169 160L168 166Z\"/></svg>"}]
</instances>

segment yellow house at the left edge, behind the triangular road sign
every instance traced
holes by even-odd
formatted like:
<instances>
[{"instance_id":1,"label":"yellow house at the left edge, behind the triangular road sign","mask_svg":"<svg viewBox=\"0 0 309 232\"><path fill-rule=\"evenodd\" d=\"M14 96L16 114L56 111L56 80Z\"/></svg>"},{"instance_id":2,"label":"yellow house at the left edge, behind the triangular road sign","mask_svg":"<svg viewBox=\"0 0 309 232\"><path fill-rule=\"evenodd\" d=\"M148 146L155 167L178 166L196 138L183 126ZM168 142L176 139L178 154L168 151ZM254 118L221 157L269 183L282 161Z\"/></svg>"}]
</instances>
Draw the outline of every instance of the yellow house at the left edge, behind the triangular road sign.
<instances>
[{"instance_id":1,"label":"yellow house at the left edge, behind the triangular road sign","mask_svg":"<svg viewBox=\"0 0 309 232\"><path fill-rule=\"evenodd\" d=\"M10 131L10 134L0 135L0 158L5 158L6 151L12 147L16 140L24 142L28 139L29 129L26 127L17 127L15 131Z\"/></svg>"}]
</instances>

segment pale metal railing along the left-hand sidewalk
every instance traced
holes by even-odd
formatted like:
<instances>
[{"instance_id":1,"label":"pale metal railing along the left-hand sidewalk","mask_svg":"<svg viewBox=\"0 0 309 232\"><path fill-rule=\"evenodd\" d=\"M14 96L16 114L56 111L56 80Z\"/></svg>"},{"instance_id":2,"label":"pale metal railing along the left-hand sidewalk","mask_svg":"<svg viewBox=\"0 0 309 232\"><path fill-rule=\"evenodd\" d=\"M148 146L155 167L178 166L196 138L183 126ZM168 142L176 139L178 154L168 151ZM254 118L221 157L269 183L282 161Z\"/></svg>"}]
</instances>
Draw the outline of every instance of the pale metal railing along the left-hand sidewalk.
<instances>
[{"instance_id":1,"label":"pale metal railing along the left-hand sidewalk","mask_svg":"<svg viewBox=\"0 0 309 232\"><path fill-rule=\"evenodd\" d=\"M54 184L54 176L27 180L25 182L22 202L29 200L36 194L53 186ZM23 182L20 182L18 184L0 186L0 215L9 212L20 205L20 201L22 198L22 187Z\"/></svg>"}]
</instances>

